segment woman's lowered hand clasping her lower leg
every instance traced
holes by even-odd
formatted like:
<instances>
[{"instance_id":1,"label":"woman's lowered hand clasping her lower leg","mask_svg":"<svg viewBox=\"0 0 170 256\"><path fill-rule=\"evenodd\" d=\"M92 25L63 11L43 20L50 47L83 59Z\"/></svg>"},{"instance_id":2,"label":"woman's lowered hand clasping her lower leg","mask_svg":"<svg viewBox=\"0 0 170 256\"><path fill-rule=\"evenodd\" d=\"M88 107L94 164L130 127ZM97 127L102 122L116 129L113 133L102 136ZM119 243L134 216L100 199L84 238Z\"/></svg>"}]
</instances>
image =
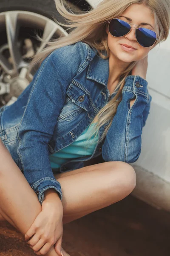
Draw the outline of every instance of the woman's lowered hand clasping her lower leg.
<instances>
[{"instance_id":1,"label":"woman's lowered hand clasping her lower leg","mask_svg":"<svg viewBox=\"0 0 170 256\"><path fill-rule=\"evenodd\" d=\"M37 255L48 253L51 246L55 244L57 254L62 256L63 207L59 195L54 189L52 189L52 193L49 197L45 196L42 202L42 211L37 215L25 235L26 240L31 238L28 244Z\"/></svg>"}]
</instances>

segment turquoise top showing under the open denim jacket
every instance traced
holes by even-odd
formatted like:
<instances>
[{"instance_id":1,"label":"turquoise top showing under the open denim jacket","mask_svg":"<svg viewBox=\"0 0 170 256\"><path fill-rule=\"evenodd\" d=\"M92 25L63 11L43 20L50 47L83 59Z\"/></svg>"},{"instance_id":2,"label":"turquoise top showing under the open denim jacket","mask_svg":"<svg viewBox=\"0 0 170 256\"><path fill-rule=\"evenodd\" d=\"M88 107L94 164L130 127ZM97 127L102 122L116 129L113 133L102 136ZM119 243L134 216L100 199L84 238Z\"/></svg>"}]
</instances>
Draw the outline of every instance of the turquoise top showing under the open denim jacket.
<instances>
[{"instance_id":1,"label":"turquoise top showing under the open denim jacket","mask_svg":"<svg viewBox=\"0 0 170 256\"><path fill-rule=\"evenodd\" d=\"M88 127L89 126L90 125L88 125ZM85 131L73 143L71 143L65 148L60 149L56 153L51 154L50 155L51 168L59 168L63 163L67 162L68 159L92 155L98 140L98 136L96 136L94 140L95 134L93 134L93 136L88 140L88 138L91 135L90 133L93 126L94 126L94 123L92 124L92 127L91 129L89 129L89 131L87 127ZM88 144L86 143L87 140L88 140Z\"/></svg>"}]
</instances>

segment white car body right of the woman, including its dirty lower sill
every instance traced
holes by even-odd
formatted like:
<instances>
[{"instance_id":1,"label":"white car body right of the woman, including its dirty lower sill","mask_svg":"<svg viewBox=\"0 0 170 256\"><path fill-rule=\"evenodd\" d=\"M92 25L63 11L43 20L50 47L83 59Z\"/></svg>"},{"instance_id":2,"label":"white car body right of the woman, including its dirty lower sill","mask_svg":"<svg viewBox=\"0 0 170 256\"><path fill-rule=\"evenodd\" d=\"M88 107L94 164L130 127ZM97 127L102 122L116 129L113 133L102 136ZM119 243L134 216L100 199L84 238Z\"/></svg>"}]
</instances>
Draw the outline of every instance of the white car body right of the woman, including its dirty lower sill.
<instances>
[{"instance_id":1,"label":"white car body right of the woman, including its dirty lower sill","mask_svg":"<svg viewBox=\"0 0 170 256\"><path fill-rule=\"evenodd\" d=\"M94 8L102 0L88 0ZM170 211L170 35L148 55L150 114L142 132L142 151L131 165L137 185L132 194Z\"/></svg>"}]
</instances>

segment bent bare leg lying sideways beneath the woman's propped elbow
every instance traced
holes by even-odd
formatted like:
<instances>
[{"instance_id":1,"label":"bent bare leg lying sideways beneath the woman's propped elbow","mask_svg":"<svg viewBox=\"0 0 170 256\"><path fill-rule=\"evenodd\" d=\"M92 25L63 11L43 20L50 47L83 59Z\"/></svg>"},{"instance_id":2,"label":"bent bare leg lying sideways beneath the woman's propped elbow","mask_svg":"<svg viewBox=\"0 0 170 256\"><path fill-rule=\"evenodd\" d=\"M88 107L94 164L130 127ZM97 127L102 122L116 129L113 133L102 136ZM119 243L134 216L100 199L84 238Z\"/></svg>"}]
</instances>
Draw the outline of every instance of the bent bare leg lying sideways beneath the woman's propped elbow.
<instances>
[{"instance_id":1,"label":"bent bare leg lying sideways beneath the woman's propped elbow","mask_svg":"<svg viewBox=\"0 0 170 256\"><path fill-rule=\"evenodd\" d=\"M80 168L80 169L77 169L77 170L74 170L71 172L65 172L65 173L54 175L55 178L62 185L62 194L63 194L62 204L63 204L63 211L64 211L63 224L74 221L75 219L81 218L82 216L87 215L91 212L94 212L97 209L102 209L110 204L113 204L114 203L114 202L112 202L113 199L115 200L115 202L119 201L119 200L125 198L125 196L130 194L130 192L133 190L133 188L136 185L136 175L135 175L135 172L133 172L133 169L131 168L130 165L123 163L123 162L108 162L108 163L104 163L104 164L105 165L103 165L103 163L94 164L94 165L88 166L88 168L83 167L83 168ZM107 169L107 170L104 171L104 169ZM122 169L122 172L121 172L121 169ZM127 169L129 169L129 172ZM111 170L113 170L113 171L111 171ZM120 178L121 178L121 175L125 177L126 182L127 182L127 187L125 187L125 186L121 187L122 195L121 195L121 192L119 194L116 194L115 191L114 191L114 195L111 195L113 193L113 189L110 190L110 189L108 189L108 187L106 187L105 196L107 196L107 201L103 201L103 197L101 197L101 195L100 195L100 193L102 193L101 183L99 183L100 187L99 187L99 191L97 192L96 198L94 197L94 195L95 195L95 189L97 190L97 188L95 188L94 184L92 184L93 185L92 187L90 187L90 185L88 184L88 191L86 191L86 194L83 194L84 193L83 189L79 190L79 188L75 185L75 184L79 184L80 187L83 187L83 183L84 183L84 186L87 186L87 182L91 176L91 173L90 174L85 173L82 175L82 172L91 172L91 173L95 172L97 176L100 175L100 179L101 179L102 183L104 181L107 183L107 180L109 180L110 178L113 178L108 175L108 172L110 172L110 175L112 175L112 176L114 175L115 178L116 178L116 175L118 174L117 172L119 172ZM123 172L125 172L126 176L124 175ZM63 179L63 178L67 177L67 176L75 175L75 174L77 174L77 175L74 176L74 178L76 178L76 179L78 178L79 182L77 183L76 180L74 180L73 187L71 187L70 184L73 183L73 181L71 181L70 179ZM88 180L85 179L85 176ZM127 176L128 176L128 180L126 178ZM95 176L94 176L94 178L95 178ZM131 182L130 182L130 179L131 179ZM123 180L122 180L122 182L123 182ZM69 186L67 185L67 183L69 183ZM120 183L119 183L119 185L120 185ZM103 186L105 186L104 183L103 183ZM113 186L115 188L114 183L112 184L112 187ZM127 195L126 194L124 195L124 193L126 193L126 191L125 191L126 189L127 189ZM93 197L91 197L91 200L90 200L90 198L88 198L88 194L89 195L94 194ZM116 196L120 196L120 198L116 198ZM70 202L73 201L73 198L74 198L75 203L70 204ZM95 200L94 200L94 198L95 198ZM85 201L84 201L85 199L87 201L86 205L85 205ZM69 201L69 204L67 204L68 201ZM78 201L82 202L82 204L79 204ZM100 206L94 207L95 206L94 201L97 204L100 204ZM106 204L106 206L105 206L105 204ZM92 208L92 206L94 207L94 209ZM73 207L75 209L73 209ZM82 209L82 210L80 211L80 209ZM0 211L1 211L1 209L0 209ZM6 221L6 219L3 218L3 216L1 214L0 214L0 221ZM16 227L14 222L12 222L10 219L8 222L10 222L14 227Z\"/></svg>"}]
</instances>

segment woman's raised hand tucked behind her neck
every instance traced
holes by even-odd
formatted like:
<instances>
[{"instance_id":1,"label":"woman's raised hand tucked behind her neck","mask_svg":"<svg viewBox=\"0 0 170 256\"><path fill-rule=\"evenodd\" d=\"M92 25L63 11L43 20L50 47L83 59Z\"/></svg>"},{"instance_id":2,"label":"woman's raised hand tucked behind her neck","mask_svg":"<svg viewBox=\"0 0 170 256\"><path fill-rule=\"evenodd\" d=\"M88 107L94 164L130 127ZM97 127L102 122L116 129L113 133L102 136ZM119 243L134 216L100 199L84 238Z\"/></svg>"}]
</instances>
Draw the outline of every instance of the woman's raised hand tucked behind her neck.
<instances>
[{"instance_id":1,"label":"woman's raised hand tucked behind her neck","mask_svg":"<svg viewBox=\"0 0 170 256\"><path fill-rule=\"evenodd\" d=\"M142 60L138 61L135 67L133 67L132 75L141 76L143 79L146 79L147 67L148 67L148 55Z\"/></svg>"}]
</instances>

